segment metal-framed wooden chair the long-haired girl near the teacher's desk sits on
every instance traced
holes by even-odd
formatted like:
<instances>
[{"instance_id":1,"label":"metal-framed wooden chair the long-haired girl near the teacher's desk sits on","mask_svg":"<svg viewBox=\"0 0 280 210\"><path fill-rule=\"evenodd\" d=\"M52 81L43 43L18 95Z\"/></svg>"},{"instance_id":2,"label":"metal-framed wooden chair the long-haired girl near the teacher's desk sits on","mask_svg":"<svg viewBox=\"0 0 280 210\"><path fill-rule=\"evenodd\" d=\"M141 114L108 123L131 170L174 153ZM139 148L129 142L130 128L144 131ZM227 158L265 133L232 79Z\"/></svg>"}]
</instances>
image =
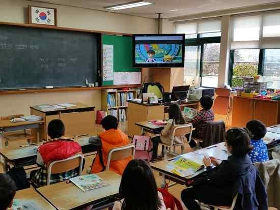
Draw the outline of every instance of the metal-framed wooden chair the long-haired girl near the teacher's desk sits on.
<instances>
[{"instance_id":1,"label":"metal-framed wooden chair the long-haired girl near the teacher's desk sits on","mask_svg":"<svg viewBox=\"0 0 280 210\"><path fill-rule=\"evenodd\" d=\"M185 124L182 126L175 126L172 132L172 138L171 138L171 144L164 144L164 143L160 143L162 144L162 146L164 146L163 149L163 158L164 160L167 159L167 151L166 151L166 147L169 148L169 153L171 155L177 156L178 154L175 153L175 147L176 146L181 146L181 154L183 154L184 152L184 142L182 144L175 144L174 143L174 139L176 136L185 136L187 134L189 134L189 139L188 142L190 142L191 140L191 133L192 133L192 124ZM171 147L173 147L173 153L171 152Z\"/></svg>"}]
</instances>

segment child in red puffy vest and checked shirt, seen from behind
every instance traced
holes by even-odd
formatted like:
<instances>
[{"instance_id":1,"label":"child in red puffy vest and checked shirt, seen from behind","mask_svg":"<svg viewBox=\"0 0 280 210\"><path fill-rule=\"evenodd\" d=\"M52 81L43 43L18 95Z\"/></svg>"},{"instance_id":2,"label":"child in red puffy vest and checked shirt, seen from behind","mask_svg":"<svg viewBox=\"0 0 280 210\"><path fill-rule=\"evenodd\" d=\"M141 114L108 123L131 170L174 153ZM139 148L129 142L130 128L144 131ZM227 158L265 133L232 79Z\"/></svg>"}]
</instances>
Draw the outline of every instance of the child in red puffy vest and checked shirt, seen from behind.
<instances>
[{"instance_id":1,"label":"child in red puffy vest and checked shirt, seen from behind","mask_svg":"<svg viewBox=\"0 0 280 210\"><path fill-rule=\"evenodd\" d=\"M65 126L60 119L53 119L48 124L48 136L51 138L38 148L37 164L41 166L39 170L31 171L30 177L38 186L47 184L48 163L55 160L63 160L81 153L80 145L71 138L64 138ZM63 182L78 175L78 170L51 174L50 184Z\"/></svg>"}]
</instances>

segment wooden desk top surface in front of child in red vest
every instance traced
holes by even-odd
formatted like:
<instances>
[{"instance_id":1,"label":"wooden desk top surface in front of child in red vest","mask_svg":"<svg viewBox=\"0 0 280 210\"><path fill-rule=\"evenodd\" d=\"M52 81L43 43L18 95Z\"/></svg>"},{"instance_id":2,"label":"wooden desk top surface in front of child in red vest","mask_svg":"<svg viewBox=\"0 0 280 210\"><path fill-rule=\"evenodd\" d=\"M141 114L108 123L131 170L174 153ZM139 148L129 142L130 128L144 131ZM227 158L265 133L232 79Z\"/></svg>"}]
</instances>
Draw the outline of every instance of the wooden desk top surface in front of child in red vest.
<instances>
[{"instance_id":1,"label":"wooden desk top surface in front of child in red vest","mask_svg":"<svg viewBox=\"0 0 280 210\"><path fill-rule=\"evenodd\" d=\"M78 142L80 146L86 146L90 144L89 138L90 138L89 136L83 137L83 138L75 139L75 141ZM37 148L39 146L40 144L34 146L19 147L16 149L4 148L0 150L0 154L10 161L28 158L32 156L35 157L37 156Z\"/></svg>"}]
</instances>

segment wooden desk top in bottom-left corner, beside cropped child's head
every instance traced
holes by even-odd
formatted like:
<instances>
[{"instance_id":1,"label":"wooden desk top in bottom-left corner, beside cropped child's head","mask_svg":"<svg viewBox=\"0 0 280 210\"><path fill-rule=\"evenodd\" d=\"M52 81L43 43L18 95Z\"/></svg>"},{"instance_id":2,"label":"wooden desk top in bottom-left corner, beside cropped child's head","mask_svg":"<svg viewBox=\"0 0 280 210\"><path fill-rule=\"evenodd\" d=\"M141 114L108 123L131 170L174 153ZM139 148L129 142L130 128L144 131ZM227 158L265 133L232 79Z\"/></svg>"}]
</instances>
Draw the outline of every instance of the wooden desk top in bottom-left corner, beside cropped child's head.
<instances>
[{"instance_id":1,"label":"wooden desk top in bottom-left corner, beside cropped child's head","mask_svg":"<svg viewBox=\"0 0 280 210\"><path fill-rule=\"evenodd\" d=\"M19 202L32 201L39 209L55 209L47 200L45 200L39 193L33 188L27 188L24 190L16 191L15 199Z\"/></svg>"}]
</instances>

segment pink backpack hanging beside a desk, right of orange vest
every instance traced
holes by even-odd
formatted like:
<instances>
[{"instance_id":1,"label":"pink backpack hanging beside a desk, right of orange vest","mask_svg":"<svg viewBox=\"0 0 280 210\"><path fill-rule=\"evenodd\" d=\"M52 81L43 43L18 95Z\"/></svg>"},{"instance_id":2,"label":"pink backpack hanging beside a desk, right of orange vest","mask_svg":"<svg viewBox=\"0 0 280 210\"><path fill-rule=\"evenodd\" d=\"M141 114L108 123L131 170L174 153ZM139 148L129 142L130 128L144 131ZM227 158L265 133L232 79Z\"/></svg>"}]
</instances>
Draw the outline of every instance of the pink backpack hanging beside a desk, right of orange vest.
<instances>
[{"instance_id":1,"label":"pink backpack hanging beside a desk, right of orange vest","mask_svg":"<svg viewBox=\"0 0 280 210\"><path fill-rule=\"evenodd\" d=\"M133 136L135 145L135 159L142 159L150 162L152 158L152 141L150 136Z\"/></svg>"}]
</instances>

